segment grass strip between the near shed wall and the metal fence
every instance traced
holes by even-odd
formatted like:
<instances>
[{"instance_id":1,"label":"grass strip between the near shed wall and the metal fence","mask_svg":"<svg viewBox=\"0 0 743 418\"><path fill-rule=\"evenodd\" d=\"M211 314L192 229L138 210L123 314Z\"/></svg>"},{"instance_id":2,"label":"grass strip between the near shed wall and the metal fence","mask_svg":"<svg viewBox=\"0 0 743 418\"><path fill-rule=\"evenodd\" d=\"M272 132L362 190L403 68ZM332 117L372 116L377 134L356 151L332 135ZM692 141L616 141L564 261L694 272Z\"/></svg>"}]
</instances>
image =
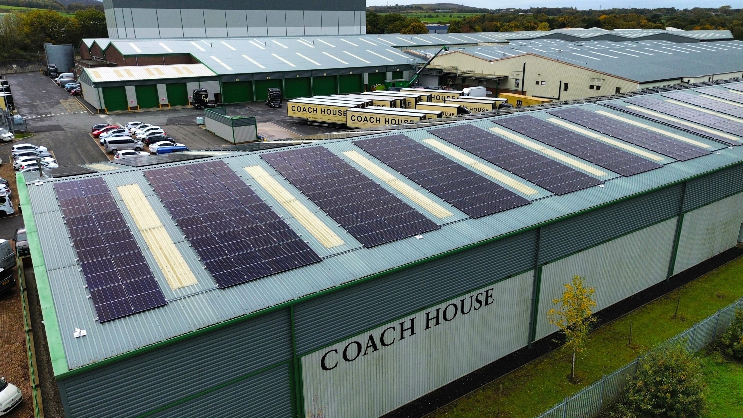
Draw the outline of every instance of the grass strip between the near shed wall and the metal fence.
<instances>
[{"instance_id":1,"label":"grass strip between the near shed wall and the metal fence","mask_svg":"<svg viewBox=\"0 0 743 418\"><path fill-rule=\"evenodd\" d=\"M571 384L567 379L570 353L554 350L428 417L534 417L603 374L634 360L655 344L691 327L695 321L733 303L743 296L742 276L743 257L740 257L591 332L588 348L577 358L577 370L583 378L580 384ZM680 302L678 315L674 317L677 301ZM628 344L630 324L632 344ZM499 396L501 388L502 397ZM736 415L710 415L733 416Z\"/></svg>"}]
</instances>

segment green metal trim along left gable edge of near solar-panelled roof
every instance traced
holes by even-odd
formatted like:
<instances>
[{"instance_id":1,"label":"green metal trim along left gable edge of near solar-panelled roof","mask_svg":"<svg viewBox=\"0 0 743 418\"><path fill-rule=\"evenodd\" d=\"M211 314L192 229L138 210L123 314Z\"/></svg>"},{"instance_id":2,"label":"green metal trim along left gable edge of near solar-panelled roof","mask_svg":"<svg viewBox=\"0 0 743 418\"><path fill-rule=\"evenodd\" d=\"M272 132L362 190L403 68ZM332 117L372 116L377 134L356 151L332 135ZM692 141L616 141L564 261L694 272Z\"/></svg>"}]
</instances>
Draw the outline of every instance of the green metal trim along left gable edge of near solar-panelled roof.
<instances>
[{"instance_id":1,"label":"green metal trim along left gable edge of near solar-panelled roof","mask_svg":"<svg viewBox=\"0 0 743 418\"><path fill-rule=\"evenodd\" d=\"M31 202L28 199L28 189L23 173L16 173L16 185L18 186L19 209L30 208ZM23 211L22 216L23 223L26 227L26 237L28 239L31 261L33 261L36 292L39 293L39 304L42 308L42 318L44 318L44 330L49 347L51 367L56 376L68 370L67 358L65 358L65 350L62 347L62 335L59 332L59 323L56 319L54 298L51 292L51 286L49 286L49 277L47 276L39 234L36 231L36 222L33 220L33 213L30 210Z\"/></svg>"}]
</instances>

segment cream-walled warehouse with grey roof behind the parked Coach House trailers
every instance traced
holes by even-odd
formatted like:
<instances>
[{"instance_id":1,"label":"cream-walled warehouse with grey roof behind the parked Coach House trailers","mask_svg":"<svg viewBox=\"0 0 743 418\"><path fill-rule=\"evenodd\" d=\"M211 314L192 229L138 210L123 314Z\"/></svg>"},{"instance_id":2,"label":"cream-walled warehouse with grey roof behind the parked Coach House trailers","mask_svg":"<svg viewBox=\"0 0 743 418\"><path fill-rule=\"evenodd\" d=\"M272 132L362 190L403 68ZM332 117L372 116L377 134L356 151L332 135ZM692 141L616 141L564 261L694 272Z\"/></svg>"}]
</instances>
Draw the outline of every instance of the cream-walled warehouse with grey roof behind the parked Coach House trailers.
<instances>
[{"instance_id":1,"label":"cream-walled warehouse with grey roof behind the parked Coach House trailers","mask_svg":"<svg viewBox=\"0 0 743 418\"><path fill-rule=\"evenodd\" d=\"M452 48L435 58L423 83L489 94L576 100L743 76L743 42L529 39ZM427 85L427 84L426 84Z\"/></svg>"}]
</instances>

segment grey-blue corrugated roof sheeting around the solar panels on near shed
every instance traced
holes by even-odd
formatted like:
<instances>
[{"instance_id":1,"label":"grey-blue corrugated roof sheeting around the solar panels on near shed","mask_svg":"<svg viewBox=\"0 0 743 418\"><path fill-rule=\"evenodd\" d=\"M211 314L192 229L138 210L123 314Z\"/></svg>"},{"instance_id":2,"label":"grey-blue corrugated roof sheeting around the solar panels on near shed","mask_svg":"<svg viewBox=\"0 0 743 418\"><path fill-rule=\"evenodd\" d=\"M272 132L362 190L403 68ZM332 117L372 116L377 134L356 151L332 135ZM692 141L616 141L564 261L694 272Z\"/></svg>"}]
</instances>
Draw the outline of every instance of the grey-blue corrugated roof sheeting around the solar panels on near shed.
<instances>
[{"instance_id":1,"label":"grey-blue corrugated roof sheeting around the solar panels on near shed","mask_svg":"<svg viewBox=\"0 0 743 418\"><path fill-rule=\"evenodd\" d=\"M593 110L600 107L600 109L606 112L617 112L597 104L579 106ZM547 117L544 111L530 113L536 115L538 118ZM629 115L623 114L622 116L631 120L640 120ZM513 117L513 115L506 115L501 118L510 117ZM470 124L479 126L482 129L488 129L494 126L490 122L491 119L457 123ZM84 287L85 280L77 264L76 255L74 249L71 247L68 231L63 223L59 207L56 205L55 193L52 187L58 181L69 181L74 178L52 179L39 182L37 181L38 178L34 179L33 176L29 176L26 183L30 196L31 209L33 210L33 219L37 224L44 260L48 270L54 307L56 309L57 320L59 321L59 334L62 336L62 344L65 350L68 368L72 370L85 364L91 364L111 356L116 356L117 354L136 350L137 348L182 335L195 329L218 324L230 318L236 318L240 315L274 306L278 303L311 295L323 289L329 289L343 283L367 277L371 274L394 269L395 267L403 266L416 260L423 260L435 254L452 251L456 248L481 242L492 237L499 237L522 228L528 228L531 225L537 225L551 219L566 216L570 213L593 208L606 202L631 196L635 193L642 193L646 190L663 186L664 184L681 181L700 173L743 161L743 147L728 148L725 144L719 144L704 138L697 138L685 132L669 128L668 126L658 125L648 120L641 121L642 123L655 125L666 131L673 131L684 137L695 138L696 141L710 145L713 149L716 149L716 152L684 162L665 158L661 163L664 164L663 167L632 177L620 177L609 172L603 177L605 180L604 187L590 187L562 196L553 195L547 190L528 183L524 179L506 173L501 168L481 160L475 155L464 152L470 158L490 167L490 169L504 173L505 176L509 176L516 181L531 185L531 187L539 191L536 195L525 196L531 200L530 205L483 216L478 219L468 218L461 211L456 210L444 200L439 199L438 196L428 193L425 189L389 169L389 167L379 164L387 173L397 177L403 183L421 191L421 193L426 194L426 196L429 196L429 198L438 204L451 210L454 216L450 219L442 220L432 215L426 215L433 222L441 225L441 228L424 234L423 239L416 239L415 237L398 239L397 241L377 245L372 248L364 248L360 245L354 237L347 234L333 219L322 212L322 210L319 210L313 202L308 200L299 190L293 187L284 177L276 173L272 167L260 158L262 153L272 152L272 150L230 152L229 154L215 156L213 159L224 161L236 173L242 176L256 190L256 193L265 199L288 222L291 228L298 234L301 234L302 239L305 239L308 245L322 257L322 261L319 263L283 271L279 274L273 274L225 289L217 289L215 287L215 282L209 272L203 268L197 254L188 245L186 239L183 238L181 230L174 224L169 217L169 213L163 208L155 192L152 191L152 188L143 176L143 169L119 167L118 170L79 176L77 178L103 178L114 195L117 204L123 209L122 211L129 225L134 225L134 222L129 216L129 213L126 213L126 206L121 202L120 196L116 191L116 186L139 184L142 190L144 190L150 205L154 208L160 222L166 228L169 236L176 242L181 253L184 254L184 258L186 258L198 280L198 285L196 286L187 286L177 290L169 289L168 286L161 286L163 293L169 300L166 306L140 312L136 315L107 322L106 324L98 324L97 321L94 321L97 315L91 300L88 298L87 289ZM400 132L403 132L409 138L416 141L433 137L433 135L427 133L427 129L425 128ZM363 168L343 155L344 151L351 149L362 152L352 144L354 139L327 141L322 143L322 145L369 176L369 173ZM531 141L525 138L524 140ZM317 146L317 144L299 145L298 147L312 146ZM565 155L562 151L555 152ZM212 158L206 158L200 161L209 161L210 159ZM372 158L372 161L375 160ZM591 165L587 161L581 162ZM190 163L172 163L167 165L182 164ZM112 164L106 163L106 166L108 165ZM313 211L328 228L331 228L336 234L343 237L345 243L338 247L325 248L302 227L300 222L294 222L291 213L285 210L256 181L250 179L250 176L247 176L243 170L243 167L256 165L263 167L268 173L271 173L279 184ZM152 169L152 167L149 168ZM392 187L389 187L383 182L380 182L380 184L381 187L394 193L409 205L420 210L421 213L427 213L422 207L416 205L412 200L407 199L406 196L397 193ZM158 270L157 264L154 263L154 257L140 232L137 228L130 229L132 234L134 234L134 238L137 240L137 244L143 249L146 259L153 268L155 277L158 278L159 283L166 283L163 279L163 274ZM86 329L88 335L83 338L74 338L73 332L76 327Z\"/></svg>"}]
</instances>

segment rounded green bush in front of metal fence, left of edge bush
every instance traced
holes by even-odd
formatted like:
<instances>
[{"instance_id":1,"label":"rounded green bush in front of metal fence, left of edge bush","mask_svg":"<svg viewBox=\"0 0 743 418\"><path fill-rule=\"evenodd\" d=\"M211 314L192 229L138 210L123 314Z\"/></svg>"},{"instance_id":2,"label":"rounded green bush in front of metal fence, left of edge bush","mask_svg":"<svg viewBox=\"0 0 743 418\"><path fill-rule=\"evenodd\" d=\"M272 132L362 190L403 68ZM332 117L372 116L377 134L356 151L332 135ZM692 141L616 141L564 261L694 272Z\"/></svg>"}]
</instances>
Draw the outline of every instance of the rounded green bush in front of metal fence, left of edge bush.
<instances>
[{"instance_id":1,"label":"rounded green bush in front of metal fence, left of edge bush","mask_svg":"<svg viewBox=\"0 0 743 418\"><path fill-rule=\"evenodd\" d=\"M681 343L652 350L629 377L626 395L611 413L622 418L694 418L707 409L699 359Z\"/></svg>"}]
</instances>

